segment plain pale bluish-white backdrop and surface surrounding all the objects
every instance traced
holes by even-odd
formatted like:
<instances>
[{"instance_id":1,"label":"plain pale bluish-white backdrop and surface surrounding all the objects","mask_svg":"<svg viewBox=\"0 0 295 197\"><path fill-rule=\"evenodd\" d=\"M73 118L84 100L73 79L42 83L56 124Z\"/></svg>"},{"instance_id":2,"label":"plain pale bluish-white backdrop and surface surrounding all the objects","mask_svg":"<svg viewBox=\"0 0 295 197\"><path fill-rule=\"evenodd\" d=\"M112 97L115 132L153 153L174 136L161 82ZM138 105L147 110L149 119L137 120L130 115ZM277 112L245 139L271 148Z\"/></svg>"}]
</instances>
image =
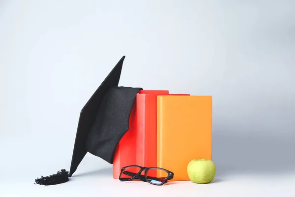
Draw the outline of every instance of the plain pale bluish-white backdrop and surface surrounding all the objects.
<instances>
[{"instance_id":1,"label":"plain pale bluish-white backdrop and surface surrounding all the objects","mask_svg":"<svg viewBox=\"0 0 295 197\"><path fill-rule=\"evenodd\" d=\"M214 181L112 179L79 113L118 60L120 86L212 95ZM294 0L0 0L0 196L294 196Z\"/></svg>"}]
</instances>

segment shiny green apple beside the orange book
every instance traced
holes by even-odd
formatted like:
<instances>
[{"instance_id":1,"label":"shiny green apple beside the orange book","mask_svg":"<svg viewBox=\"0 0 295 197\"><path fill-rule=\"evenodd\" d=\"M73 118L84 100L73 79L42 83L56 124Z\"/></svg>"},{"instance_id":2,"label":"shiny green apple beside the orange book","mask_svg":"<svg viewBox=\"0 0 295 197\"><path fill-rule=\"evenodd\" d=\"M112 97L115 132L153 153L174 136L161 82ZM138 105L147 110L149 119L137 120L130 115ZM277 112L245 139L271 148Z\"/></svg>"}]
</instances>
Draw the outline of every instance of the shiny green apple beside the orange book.
<instances>
[{"instance_id":1,"label":"shiny green apple beside the orange book","mask_svg":"<svg viewBox=\"0 0 295 197\"><path fill-rule=\"evenodd\" d=\"M195 159L187 165L187 175L194 183L210 183L215 172L215 164L209 159Z\"/></svg>"}]
</instances>

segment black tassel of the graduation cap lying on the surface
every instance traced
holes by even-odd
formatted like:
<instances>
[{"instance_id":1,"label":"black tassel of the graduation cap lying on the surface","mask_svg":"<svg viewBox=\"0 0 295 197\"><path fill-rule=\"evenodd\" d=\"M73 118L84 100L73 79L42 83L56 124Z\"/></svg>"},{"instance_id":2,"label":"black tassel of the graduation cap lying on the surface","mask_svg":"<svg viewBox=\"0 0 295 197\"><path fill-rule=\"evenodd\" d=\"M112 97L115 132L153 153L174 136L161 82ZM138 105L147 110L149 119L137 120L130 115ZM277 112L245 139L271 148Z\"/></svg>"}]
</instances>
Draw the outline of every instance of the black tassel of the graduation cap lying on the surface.
<instances>
[{"instance_id":1,"label":"black tassel of the graduation cap lying on the surface","mask_svg":"<svg viewBox=\"0 0 295 197\"><path fill-rule=\"evenodd\" d=\"M65 169L61 169L58 171L57 174L53 174L50 176L41 176L41 178L35 179L34 184L39 184L39 185L56 185L59 183L65 183L69 180L69 172L66 171Z\"/></svg>"}]
</instances>

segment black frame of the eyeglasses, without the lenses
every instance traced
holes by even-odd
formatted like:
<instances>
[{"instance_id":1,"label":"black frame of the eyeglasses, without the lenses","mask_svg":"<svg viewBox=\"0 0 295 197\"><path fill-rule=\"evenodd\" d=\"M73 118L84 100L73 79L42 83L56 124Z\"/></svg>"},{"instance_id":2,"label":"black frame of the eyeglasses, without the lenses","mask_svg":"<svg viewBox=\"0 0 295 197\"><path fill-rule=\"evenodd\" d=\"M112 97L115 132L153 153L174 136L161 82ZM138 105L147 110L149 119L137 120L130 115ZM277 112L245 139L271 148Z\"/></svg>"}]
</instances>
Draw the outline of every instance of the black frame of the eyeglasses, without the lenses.
<instances>
[{"instance_id":1,"label":"black frame of the eyeglasses, without the lenses","mask_svg":"<svg viewBox=\"0 0 295 197\"><path fill-rule=\"evenodd\" d=\"M140 170L139 170L139 172L137 174L134 173L134 172L129 172L127 175L132 176L131 178L122 178L121 175L123 174L124 170L126 168L128 168L128 167L139 167ZM168 176L166 177L166 179L163 182L161 181L162 182L161 184L152 183L152 182L148 181L148 179L154 179L154 180L158 179L159 180L159 178L158 177L147 176L148 170L151 170L151 169L163 170L163 171L168 173ZM143 171L145 172L145 175L141 175L141 173ZM126 173L124 173L124 174L126 174ZM139 166L139 165L128 165L128 166L122 167L121 173L119 175L119 180L120 181L132 181L132 180L137 179L137 180L141 180L141 181L144 181L144 182L148 182L148 183L153 184L153 185L159 185L160 186L160 185L164 185L165 183L167 183L168 180L173 179L173 176L174 176L174 173L172 171L169 171L169 170L161 168L161 167L142 167L142 166Z\"/></svg>"}]
</instances>

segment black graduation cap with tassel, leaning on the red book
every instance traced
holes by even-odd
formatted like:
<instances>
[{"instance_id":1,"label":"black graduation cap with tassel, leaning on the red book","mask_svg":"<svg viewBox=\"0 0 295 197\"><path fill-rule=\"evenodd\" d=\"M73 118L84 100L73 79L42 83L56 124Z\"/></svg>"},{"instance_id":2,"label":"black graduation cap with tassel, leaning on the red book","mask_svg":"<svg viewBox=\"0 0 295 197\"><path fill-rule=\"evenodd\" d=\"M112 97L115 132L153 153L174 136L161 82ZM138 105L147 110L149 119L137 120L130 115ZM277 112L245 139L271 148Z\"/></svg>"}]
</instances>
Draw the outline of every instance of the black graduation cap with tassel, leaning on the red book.
<instances>
[{"instance_id":1,"label":"black graduation cap with tassel, leaning on the red book","mask_svg":"<svg viewBox=\"0 0 295 197\"><path fill-rule=\"evenodd\" d=\"M70 172L37 178L35 184L55 185L68 181L87 152L113 164L119 140L129 130L129 117L142 88L118 86L123 56L81 110Z\"/></svg>"}]
</instances>

